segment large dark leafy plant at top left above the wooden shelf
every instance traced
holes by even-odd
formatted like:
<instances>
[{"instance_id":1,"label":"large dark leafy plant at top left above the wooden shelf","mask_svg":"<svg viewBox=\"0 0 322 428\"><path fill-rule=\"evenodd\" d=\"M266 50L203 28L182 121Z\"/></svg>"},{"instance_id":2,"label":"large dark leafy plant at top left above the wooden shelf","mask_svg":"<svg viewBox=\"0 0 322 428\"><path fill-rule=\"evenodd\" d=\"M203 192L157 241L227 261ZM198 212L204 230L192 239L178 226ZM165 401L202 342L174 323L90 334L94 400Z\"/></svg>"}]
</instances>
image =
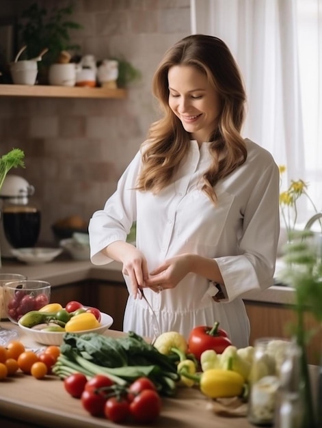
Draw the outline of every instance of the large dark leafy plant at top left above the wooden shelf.
<instances>
[{"instance_id":1,"label":"large dark leafy plant at top left above the wooden shelf","mask_svg":"<svg viewBox=\"0 0 322 428\"><path fill-rule=\"evenodd\" d=\"M31 59L37 57L42 49L48 48L49 51L39 64L40 68L44 68L55 63L60 52L79 49L78 44L70 44L69 31L82 28L80 24L68 19L72 12L71 3L65 8L52 10L32 3L23 10L18 20L18 39L22 45L27 45L27 49L22 56Z\"/></svg>"}]
</instances>

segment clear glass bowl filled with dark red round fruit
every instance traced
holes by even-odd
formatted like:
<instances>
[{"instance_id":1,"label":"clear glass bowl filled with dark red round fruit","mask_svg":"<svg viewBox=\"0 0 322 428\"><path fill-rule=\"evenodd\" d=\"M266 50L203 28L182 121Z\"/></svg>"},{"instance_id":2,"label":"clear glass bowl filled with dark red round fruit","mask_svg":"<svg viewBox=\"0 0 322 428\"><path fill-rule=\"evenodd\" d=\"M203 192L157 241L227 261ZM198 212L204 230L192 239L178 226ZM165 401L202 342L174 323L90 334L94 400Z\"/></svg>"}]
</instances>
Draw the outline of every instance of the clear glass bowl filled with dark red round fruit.
<instances>
[{"instance_id":1,"label":"clear glass bowl filled with dark red round fruit","mask_svg":"<svg viewBox=\"0 0 322 428\"><path fill-rule=\"evenodd\" d=\"M51 284L41 280L20 280L3 285L3 302L7 317L12 323L31 310L39 310L49 304Z\"/></svg>"}]
</instances>

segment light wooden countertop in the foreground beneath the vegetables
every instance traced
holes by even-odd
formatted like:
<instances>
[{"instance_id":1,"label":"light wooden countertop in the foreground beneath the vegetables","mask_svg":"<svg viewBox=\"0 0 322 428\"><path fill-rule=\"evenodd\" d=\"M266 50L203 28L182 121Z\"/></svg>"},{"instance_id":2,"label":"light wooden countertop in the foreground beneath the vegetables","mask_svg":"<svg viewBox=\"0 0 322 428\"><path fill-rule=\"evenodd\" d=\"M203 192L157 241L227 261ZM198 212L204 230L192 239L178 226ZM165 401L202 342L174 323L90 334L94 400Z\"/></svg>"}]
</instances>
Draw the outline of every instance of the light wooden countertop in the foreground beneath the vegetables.
<instances>
[{"instance_id":1,"label":"light wooden countertop in the foreground beneath the vegetables","mask_svg":"<svg viewBox=\"0 0 322 428\"><path fill-rule=\"evenodd\" d=\"M0 323L3 327L14 327L12 323ZM108 330L107 335L117 337L121 332ZM26 346L34 346L23 333L20 340ZM39 347L39 345L36 345ZM49 376L38 380L30 375L18 374L0 382L0 420L5 427L62 426L64 428L113 427L117 425L105 418L90 416L78 399L70 397L64 390L62 381ZM163 398L161 416L152 427L167 428L247 428L247 418L227 418L213 414L207 408L209 400L198 389L178 388L175 398ZM7 425L8 420L17 420L16 425ZM19 423L20 421L20 423ZM138 428L138 425L126 423L126 427ZM146 425L148 426L148 425Z\"/></svg>"}]
</instances>

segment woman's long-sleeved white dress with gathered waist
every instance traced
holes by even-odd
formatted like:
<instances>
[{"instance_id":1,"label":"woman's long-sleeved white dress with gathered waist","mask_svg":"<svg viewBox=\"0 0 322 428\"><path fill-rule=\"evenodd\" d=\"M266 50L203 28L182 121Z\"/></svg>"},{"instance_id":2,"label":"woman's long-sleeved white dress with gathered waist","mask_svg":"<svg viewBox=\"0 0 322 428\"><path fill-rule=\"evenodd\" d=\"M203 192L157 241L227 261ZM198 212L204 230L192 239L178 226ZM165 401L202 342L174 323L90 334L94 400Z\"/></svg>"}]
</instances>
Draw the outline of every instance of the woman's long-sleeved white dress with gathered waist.
<instances>
[{"instance_id":1,"label":"woman's long-sleeved white dress with gathered waist","mask_svg":"<svg viewBox=\"0 0 322 428\"><path fill-rule=\"evenodd\" d=\"M241 297L273 284L280 219L278 166L267 150L249 139L245 144L245 163L215 187L217 206L200 189L200 177L211 162L209 144L199 148L191 141L185 162L161 193L133 190L141 166L138 152L105 208L93 214L89 232L95 265L112 261L100 250L125 241L136 221L136 245L149 271L166 258L194 253L215 258L224 278L227 298L220 303L212 298L215 286L194 273L174 289L144 289L153 311L144 299L129 294L125 332L154 337L177 331L188 338L193 327L219 321L235 346L248 345L250 323ZM130 291L129 278L124 280Z\"/></svg>"}]
</instances>

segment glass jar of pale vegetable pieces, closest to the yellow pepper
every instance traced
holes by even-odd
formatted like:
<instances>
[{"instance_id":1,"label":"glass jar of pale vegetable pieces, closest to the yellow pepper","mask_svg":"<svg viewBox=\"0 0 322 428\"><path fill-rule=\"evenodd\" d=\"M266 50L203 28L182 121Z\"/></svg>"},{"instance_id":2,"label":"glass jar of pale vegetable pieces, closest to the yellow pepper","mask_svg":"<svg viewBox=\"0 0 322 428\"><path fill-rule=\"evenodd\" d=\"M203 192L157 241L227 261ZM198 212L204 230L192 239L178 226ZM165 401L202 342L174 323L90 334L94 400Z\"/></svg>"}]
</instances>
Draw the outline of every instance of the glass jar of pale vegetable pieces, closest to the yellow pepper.
<instances>
[{"instance_id":1,"label":"glass jar of pale vegetable pieces, closest to the yellow pepper","mask_svg":"<svg viewBox=\"0 0 322 428\"><path fill-rule=\"evenodd\" d=\"M254 359L250 371L248 420L258 427L272 427L276 412L279 369L289 341L258 338L254 343Z\"/></svg>"}]
</instances>

